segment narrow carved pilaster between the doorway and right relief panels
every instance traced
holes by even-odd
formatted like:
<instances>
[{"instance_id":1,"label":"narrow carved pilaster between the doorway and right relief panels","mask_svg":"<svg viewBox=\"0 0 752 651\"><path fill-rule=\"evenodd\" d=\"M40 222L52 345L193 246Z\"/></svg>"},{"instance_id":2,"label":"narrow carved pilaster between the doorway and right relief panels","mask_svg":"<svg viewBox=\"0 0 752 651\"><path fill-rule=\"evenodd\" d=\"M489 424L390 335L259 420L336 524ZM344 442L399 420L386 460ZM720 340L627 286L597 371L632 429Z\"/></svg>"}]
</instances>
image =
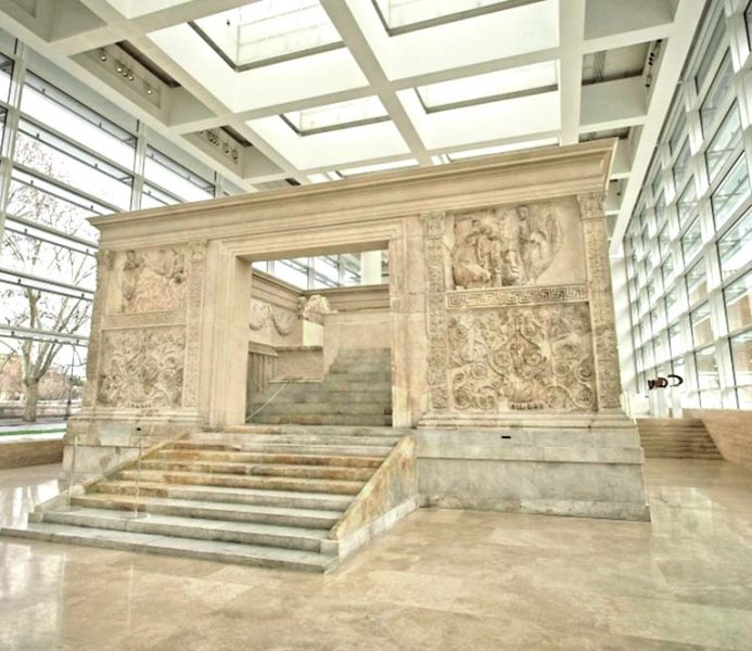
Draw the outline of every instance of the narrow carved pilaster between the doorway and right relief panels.
<instances>
[{"instance_id":1,"label":"narrow carved pilaster between the doorway and right relief panels","mask_svg":"<svg viewBox=\"0 0 752 651\"><path fill-rule=\"evenodd\" d=\"M429 330L428 383L431 408L447 409L447 317L445 307L445 213L422 215Z\"/></svg>"}]
</instances>

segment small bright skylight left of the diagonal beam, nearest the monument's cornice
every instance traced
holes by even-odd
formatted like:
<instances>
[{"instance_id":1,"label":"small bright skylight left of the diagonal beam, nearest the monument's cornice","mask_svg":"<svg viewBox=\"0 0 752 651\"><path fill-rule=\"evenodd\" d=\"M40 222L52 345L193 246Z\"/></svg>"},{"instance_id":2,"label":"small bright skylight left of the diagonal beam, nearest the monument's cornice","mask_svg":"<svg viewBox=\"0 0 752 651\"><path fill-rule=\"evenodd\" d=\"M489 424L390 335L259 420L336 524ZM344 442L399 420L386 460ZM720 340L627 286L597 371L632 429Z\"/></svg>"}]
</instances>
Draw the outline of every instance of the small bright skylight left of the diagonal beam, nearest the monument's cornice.
<instances>
[{"instance_id":1,"label":"small bright skylight left of the diagonal beam, nearest the monument's cornice","mask_svg":"<svg viewBox=\"0 0 752 651\"><path fill-rule=\"evenodd\" d=\"M344 129L388 119L386 108L378 97L326 104L314 108L290 111L284 120L301 136Z\"/></svg>"}]
</instances>

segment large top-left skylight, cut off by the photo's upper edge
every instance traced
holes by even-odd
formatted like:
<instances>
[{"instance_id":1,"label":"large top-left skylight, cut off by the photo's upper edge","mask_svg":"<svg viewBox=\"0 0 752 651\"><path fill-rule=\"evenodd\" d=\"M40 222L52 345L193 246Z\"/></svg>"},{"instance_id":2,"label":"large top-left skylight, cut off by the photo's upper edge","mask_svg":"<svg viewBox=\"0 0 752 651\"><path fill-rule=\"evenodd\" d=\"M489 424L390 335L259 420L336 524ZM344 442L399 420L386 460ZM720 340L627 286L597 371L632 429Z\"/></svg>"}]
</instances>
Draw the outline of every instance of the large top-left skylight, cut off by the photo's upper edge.
<instances>
[{"instance_id":1,"label":"large top-left skylight, cut off by the photo's upper edge","mask_svg":"<svg viewBox=\"0 0 752 651\"><path fill-rule=\"evenodd\" d=\"M258 0L197 18L191 26L240 69L341 46L319 0Z\"/></svg>"}]
</instances>

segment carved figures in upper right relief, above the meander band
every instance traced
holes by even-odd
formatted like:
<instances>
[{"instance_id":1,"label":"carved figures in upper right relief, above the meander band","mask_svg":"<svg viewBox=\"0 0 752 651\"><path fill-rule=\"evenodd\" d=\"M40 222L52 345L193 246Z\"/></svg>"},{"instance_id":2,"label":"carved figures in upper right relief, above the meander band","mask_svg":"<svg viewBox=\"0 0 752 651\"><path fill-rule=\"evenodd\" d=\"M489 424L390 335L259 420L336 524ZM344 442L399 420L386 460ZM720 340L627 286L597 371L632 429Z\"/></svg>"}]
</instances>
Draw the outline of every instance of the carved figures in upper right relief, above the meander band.
<instances>
[{"instance_id":1,"label":"carved figures in upper right relief, above the meander band","mask_svg":"<svg viewBox=\"0 0 752 651\"><path fill-rule=\"evenodd\" d=\"M455 216L451 271L457 289L527 285L563 242L552 204L489 208Z\"/></svg>"}]
</instances>

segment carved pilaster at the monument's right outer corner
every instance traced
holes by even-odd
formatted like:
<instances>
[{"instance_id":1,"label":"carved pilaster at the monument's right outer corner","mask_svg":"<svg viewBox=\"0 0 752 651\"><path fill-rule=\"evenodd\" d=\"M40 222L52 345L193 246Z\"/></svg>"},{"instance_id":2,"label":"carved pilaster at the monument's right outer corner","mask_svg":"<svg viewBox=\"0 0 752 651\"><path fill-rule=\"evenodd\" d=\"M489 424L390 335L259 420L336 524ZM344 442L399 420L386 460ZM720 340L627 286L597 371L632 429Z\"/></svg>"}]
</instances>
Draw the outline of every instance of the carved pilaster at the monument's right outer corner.
<instances>
[{"instance_id":1,"label":"carved pilaster at the monument's right outer corner","mask_svg":"<svg viewBox=\"0 0 752 651\"><path fill-rule=\"evenodd\" d=\"M603 216L606 195L603 192L588 192L578 194L577 201L585 231L585 252L590 281L590 318L595 339L598 406L599 409L617 409L621 406L622 385Z\"/></svg>"}]
</instances>

